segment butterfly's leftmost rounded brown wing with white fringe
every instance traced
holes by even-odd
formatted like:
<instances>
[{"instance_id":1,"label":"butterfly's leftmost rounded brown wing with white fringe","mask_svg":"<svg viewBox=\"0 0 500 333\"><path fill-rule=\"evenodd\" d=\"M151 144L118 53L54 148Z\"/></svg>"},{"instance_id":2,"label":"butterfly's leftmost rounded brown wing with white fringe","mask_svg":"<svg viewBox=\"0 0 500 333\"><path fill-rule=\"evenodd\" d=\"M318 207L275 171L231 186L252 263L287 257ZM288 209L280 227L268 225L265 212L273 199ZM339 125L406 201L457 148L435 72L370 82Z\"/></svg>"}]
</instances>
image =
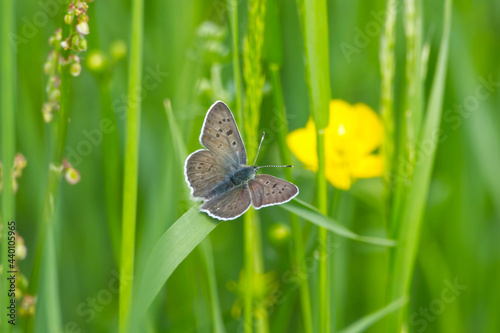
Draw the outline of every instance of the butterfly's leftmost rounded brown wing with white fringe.
<instances>
[{"instance_id":1,"label":"butterfly's leftmost rounded brown wing with white fringe","mask_svg":"<svg viewBox=\"0 0 500 333\"><path fill-rule=\"evenodd\" d=\"M204 199L218 184L227 179L229 168L214 153L200 149L186 159L184 176L191 189L191 196Z\"/></svg>"}]
</instances>

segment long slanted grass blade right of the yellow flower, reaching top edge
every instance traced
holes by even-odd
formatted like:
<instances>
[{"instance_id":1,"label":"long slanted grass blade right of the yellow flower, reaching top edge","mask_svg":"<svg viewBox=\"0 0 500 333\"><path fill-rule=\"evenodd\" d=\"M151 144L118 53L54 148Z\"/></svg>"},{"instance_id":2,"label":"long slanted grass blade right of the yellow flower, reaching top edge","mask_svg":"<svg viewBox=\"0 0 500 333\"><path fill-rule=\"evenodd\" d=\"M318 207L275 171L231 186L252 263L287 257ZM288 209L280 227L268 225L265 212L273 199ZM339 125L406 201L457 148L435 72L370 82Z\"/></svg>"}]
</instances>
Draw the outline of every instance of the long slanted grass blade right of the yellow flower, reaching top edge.
<instances>
[{"instance_id":1,"label":"long slanted grass blade right of the yellow flower, reaching top edge","mask_svg":"<svg viewBox=\"0 0 500 333\"><path fill-rule=\"evenodd\" d=\"M403 214L403 224L398 237L400 246L395 250L392 299L400 298L409 293L418 250L422 215L438 143L435 133L439 130L442 113L451 27L451 0L445 2L444 8L443 37L427 105L427 115L419 139L419 147L421 148L417 157L419 163L416 164L412 187L408 195L408 204ZM398 328L403 324L403 316L404 310L400 311Z\"/></svg>"}]
</instances>

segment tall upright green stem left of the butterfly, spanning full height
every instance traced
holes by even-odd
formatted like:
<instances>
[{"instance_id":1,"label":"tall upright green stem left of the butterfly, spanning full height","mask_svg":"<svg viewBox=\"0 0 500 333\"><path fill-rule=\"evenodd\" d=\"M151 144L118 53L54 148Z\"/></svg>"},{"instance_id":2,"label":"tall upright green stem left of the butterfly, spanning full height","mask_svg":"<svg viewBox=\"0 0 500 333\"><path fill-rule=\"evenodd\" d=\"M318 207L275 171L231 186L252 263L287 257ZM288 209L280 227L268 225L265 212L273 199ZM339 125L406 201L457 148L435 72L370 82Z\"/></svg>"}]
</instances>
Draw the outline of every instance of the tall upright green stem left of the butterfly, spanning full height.
<instances>
[{"instance_id":1,"label":"tall upright green stem left of the butterfly, spanning full height","mask_svg":"<svg viewBox=\"0 0 500 333\"><path fill-rule=\"evenodd\" d=\"M137 89L142 81L144 0L132 2L132 32L128 74L128 108L123 179L122 246L120 276L134 276L135 237L137 219L137 182L139 169L139 130L141 99ZM119 320L121 333L129 332L132 307L132 283L120 283Z\"/></svg>"}]
</instances>

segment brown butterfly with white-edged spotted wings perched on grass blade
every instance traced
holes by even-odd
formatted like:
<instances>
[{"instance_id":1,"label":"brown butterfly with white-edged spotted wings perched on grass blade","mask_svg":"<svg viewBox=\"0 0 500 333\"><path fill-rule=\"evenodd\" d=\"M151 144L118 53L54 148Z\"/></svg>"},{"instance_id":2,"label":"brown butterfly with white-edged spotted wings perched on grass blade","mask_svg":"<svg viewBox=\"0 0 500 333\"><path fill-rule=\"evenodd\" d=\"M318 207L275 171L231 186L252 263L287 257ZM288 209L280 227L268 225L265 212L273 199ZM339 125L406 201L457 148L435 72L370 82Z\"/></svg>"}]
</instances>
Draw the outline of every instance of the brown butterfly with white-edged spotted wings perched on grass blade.
<instances>
[{"instance_id":1,"label":"brown butterfly with white-edged spotted wings perched on grass blade","mask_svg":"<svg viewBox=\"0 0 500 333\"><path fill-rule=\"evenodd\" d=\"M264 135L260 141L259 155ZM264 167L291 165L247 165L247 153L229 107L215 102L207 112L200 134L206 149L186 159L184 176L195 200L203 200L200 211L219 220L233 220L253 204L256 209L282 204L299 194L294 184L270 176L257 175Z\"/></svg>"}]
</instances>

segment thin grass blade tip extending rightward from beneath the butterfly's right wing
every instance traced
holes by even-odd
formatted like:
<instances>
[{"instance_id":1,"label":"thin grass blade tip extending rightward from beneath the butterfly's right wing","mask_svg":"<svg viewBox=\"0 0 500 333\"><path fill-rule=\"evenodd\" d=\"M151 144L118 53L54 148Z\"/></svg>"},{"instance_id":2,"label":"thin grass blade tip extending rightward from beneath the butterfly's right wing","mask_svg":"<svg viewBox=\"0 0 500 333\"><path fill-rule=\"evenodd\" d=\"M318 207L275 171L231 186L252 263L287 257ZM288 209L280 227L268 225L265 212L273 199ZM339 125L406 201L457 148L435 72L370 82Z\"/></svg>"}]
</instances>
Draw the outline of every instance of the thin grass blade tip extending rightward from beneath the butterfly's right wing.
<instances>
[{"instance_id":1,"label":"thin grass blade tip extending rightward from beneath the butterfly's right wing","mask_svg":"<svg viewBox=\"0 0 500 333\"><path fill-rule=\"evenodd\" d=\"M338 223L331 217L321 214L321 212L317 208L298 199L292 200L286 205L281 205L280 207L286 209L289 212L297 214L298 216L310 221L311 223L316 224L319 227L325 228L345 238L380 246L396 245L396 242L391 239L360 236L352 232L351 230L347 229L346 227L344 227L342 224Z\"/></svg>"}]
</instances>

